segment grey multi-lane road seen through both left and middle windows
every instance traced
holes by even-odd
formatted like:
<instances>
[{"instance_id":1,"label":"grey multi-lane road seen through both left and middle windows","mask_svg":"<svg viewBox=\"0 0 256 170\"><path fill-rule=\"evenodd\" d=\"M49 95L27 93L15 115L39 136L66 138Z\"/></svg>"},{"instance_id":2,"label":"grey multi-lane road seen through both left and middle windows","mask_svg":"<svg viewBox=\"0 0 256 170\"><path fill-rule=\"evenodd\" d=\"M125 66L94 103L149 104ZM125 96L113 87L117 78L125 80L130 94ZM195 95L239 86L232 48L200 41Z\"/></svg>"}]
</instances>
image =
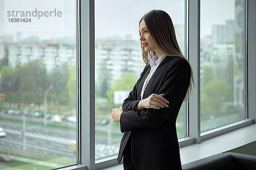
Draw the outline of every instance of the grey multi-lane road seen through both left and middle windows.
<instances>
[{"instance_id":1,"label":"grey multi-lane road seen through both left and middle windows","mask_svg":"<svg viewBox=\"0 0 256 170\"><path fill-rule=\"evenodd\" d=\"M0 127L6 131L6 138L0 138L1 146L23 149L23 124L0 120ZM105 127L106 128L106 127ZM26 150L44 153L51 156L76 156L71 148L72 140L76 139L76 130L26 125ZM111 136L108 143L107 135L96 134L96 159L118 153L121 137Z\"/></svg>"}]
</instances>

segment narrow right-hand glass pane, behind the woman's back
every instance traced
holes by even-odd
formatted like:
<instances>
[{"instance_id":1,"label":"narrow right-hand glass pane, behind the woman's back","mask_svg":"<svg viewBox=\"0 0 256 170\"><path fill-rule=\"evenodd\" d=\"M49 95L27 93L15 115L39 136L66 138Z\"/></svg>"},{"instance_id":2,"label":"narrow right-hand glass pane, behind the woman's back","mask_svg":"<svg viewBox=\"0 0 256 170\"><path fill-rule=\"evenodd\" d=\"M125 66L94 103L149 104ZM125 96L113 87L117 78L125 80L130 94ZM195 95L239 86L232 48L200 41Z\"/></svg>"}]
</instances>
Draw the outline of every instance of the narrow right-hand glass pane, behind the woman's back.
<instances>
[{"instance_id":1,"label":"narrow right-hand glass pane, behind the woman's back","mask_svg":"<svg viewBox=\"0 0 256 170\"><path fill-rule=\"evenodd\" d=\"M244 119L244 0L201 0L201 132Z\"/></svg>"}]
</instances>

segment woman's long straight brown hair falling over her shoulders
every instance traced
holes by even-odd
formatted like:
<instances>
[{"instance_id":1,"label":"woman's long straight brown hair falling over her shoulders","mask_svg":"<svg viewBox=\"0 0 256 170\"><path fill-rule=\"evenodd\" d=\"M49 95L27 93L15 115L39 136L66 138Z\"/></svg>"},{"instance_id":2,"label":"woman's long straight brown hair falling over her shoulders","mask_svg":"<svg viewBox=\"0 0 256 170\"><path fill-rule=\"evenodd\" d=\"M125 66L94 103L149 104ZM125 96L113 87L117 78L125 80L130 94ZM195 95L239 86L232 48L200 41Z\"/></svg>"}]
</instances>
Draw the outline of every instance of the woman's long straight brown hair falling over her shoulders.
<instances>
[{"instance_id":1,"label":"woman's long straight brown hair falling over her shoulders","mask_svg":"<svg viewBox=\"0 0 256 170\"><path fill-rule=\"evenodd\" d=\"M175 29L172 23L172 19L165 11L162 10L151 10L146 13L141 19L144 20L148 28L149 34L152 36L156 48L159 51L162 51L164 54L169 56L180 56L186 59L185 56L181 53L180 47L178 45ZM139 23L139 27L140 27ZM140 42L142 49L142 57L146 65L149 65L149 61L156 55L154 51L146 52L143 48L142 42ZM186 59L187 60L187 59ZM187 60L187 62L189 62ZM190 65L190 62L189 62ZM185 96L184 101L189 102L189 95L192 93L192 85L195 88L195 82L193 77L193 70L191 69L191 77L188 92Z\"/></svg>"}]
</instances>

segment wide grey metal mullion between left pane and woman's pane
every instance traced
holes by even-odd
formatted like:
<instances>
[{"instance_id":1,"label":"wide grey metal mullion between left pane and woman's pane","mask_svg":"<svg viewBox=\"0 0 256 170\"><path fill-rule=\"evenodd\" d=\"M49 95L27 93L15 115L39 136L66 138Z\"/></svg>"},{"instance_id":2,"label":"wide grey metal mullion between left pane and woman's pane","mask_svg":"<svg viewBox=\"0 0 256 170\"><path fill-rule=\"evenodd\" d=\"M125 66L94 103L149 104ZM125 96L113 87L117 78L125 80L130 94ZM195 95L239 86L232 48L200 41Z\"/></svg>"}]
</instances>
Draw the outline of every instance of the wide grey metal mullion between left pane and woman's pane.
<instances>
[{"instance_id":1,"label":"wide grey metal mullion between left pane and woman's pane","mask_svg":"<svg viewBox=\"0 0 256 170\"><path fill-rule=\"evenodd\" d=\"M95 170L94 0L80 0L81 164Z\"/></svg>"}]
</instances>

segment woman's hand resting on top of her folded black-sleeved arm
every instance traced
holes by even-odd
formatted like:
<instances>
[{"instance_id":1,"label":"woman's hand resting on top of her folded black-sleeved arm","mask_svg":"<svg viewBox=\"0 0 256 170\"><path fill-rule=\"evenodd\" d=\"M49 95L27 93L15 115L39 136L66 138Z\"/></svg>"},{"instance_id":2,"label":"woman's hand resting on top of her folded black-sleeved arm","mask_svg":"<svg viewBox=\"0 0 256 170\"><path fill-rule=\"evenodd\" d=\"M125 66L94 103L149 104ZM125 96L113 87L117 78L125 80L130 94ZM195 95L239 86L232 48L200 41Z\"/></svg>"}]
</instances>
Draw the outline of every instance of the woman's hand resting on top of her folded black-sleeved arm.
<instances>
[{"instance_id":1,"label":"woman's hand resting on top of her folded black-sleeved arm","mask_svg":"<svg viewBox=\"0 0 256 170\"><path fill-rule=\"evenodd\" d=\"M138 105L136 106L137 110L140 111L143 108L153 108L160 109L164 107L169 107L167 103L169 103L164 97L164 94L151 94L146 99L140 100Z\"/></svg>"}]
</instances>

